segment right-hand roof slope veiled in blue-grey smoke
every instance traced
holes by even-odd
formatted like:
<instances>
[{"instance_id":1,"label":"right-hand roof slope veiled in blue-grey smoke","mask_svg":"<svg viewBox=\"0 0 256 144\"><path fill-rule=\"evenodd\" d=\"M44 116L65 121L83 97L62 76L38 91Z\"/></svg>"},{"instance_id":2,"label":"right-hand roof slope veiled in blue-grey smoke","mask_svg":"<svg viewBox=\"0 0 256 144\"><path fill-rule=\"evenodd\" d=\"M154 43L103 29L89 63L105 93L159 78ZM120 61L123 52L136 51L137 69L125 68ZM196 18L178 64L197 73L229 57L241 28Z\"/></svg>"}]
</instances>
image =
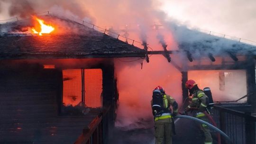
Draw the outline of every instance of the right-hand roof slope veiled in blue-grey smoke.
<instances>
[{"instance_id":1,"label":"right-hand roof slope veiled in blue-grey smoke","mask_svg":"<svg viewBox=\"0 0 256 144\"><path fill-rule=\"evenodd\" d=\"M207 56L209 53L213 56L225 54L256 55L256 45L202 33L187 27L174 26L173 35L179 44L179 48L189 52L193 57Z\"/></svg>"}]
</instances>

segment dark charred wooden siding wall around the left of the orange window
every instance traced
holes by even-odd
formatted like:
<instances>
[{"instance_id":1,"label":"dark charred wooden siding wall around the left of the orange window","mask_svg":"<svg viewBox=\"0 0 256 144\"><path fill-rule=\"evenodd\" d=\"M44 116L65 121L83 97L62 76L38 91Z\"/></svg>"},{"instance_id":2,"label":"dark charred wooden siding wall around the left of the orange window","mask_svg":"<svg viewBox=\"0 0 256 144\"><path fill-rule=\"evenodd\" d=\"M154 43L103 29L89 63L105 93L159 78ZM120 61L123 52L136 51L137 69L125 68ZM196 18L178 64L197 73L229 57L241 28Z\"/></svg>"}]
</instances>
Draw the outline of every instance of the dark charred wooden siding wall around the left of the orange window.
<instances>
[{"instance_id":1,"label":"dark charred wooden siding wall around the left of the orange window","mask_svg":"<svg viewBox=\"0 0 256 144\"><path fill-rule=\"evenodd\" d=\"M73 144L99 112L58 116L61 83L57 69L28 64L2 68L0 144Z\"/></svg>"}]
</instances>

